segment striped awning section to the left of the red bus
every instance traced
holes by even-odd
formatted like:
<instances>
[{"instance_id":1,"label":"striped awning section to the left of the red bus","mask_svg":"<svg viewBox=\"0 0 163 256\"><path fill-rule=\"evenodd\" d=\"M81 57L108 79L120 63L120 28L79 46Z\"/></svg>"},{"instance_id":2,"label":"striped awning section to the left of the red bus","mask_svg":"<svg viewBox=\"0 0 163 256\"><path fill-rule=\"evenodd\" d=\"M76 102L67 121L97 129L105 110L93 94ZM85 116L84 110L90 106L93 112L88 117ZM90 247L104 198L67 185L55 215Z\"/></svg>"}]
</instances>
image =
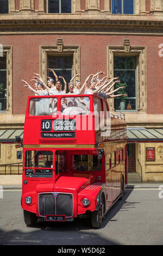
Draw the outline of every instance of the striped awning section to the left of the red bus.
<instances>
[{"instance_id":1,"label":"striped awning section to the left of the red bus","mask_svg":"<svg viewBox=\"0 0 163 256\"><path fill-rule=\"evenodd\" d=\"M23 130L6 129L0 130L0 142L16 142L15 136L20 136L23 139Z\"/></svg>"}]
</instances>

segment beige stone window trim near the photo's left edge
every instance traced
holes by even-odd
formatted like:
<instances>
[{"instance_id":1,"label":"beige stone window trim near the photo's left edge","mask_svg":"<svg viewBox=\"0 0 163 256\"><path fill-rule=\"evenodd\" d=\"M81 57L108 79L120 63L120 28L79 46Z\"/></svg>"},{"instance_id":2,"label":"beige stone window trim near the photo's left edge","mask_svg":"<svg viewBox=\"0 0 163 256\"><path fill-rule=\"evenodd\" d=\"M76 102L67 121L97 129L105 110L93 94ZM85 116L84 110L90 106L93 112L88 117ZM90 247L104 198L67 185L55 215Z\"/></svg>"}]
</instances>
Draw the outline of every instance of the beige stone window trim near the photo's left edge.
<instances>
[{"instance_id":1,"label":"beige stone window trim near the photo's left edge","mask_svg":"<svg viewBox=\"0 0 163 256\"><path fill-rule=\"evenodd\" d=\"M7 109L6 114L12 114L12 46L4 46L3 54L7 56Z\"/></svg>"}]
</instances>

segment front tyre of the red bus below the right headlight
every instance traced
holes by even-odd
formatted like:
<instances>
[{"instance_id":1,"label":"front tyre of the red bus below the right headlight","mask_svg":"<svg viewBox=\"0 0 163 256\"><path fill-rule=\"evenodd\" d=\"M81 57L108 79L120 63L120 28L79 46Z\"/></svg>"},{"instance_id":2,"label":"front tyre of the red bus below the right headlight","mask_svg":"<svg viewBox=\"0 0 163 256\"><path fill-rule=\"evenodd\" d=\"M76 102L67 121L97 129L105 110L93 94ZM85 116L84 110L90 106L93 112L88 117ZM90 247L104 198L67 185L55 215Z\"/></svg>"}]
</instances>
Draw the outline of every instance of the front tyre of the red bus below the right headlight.
<instances>
[{"instance_id":1,"label":"front tyre of the red bus below the right headlight","mask_svg":"<svg viewBox=\"0 0 163 256\"><path fill-rule=\"evenodd\" d=\"M92 227L93 228L100 228L102 221L104 220L105 216L105 206L103 197L101 197L99 209L97 211L92 212Z\"/></svg>"}]
</instances>

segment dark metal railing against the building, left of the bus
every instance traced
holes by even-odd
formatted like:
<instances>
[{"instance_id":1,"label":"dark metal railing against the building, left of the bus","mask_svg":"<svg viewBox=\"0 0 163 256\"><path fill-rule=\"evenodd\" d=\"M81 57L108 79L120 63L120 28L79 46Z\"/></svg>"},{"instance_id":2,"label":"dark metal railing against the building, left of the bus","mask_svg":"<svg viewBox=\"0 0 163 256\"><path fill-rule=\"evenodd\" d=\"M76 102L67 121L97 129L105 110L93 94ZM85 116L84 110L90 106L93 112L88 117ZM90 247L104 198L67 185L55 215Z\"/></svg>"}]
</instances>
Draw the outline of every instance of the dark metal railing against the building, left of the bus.
<instances>
[{"instance_id":1,"label":"dark metal railing against the building, left of the bus","mask_svg":"<svg viewBox=\"0 0 163 256\"><path fill-rule=\"evenodd\" d=\"M13 166L15 167L17 165L16 170L13 170ZM4 163L0 164L0 175L20 175L23 172L23 168L21 168L21 165L23 167L23 162L21 163ZM4 166L4 170L1 169L1 167Z\"/></svg>"}]
</instances>

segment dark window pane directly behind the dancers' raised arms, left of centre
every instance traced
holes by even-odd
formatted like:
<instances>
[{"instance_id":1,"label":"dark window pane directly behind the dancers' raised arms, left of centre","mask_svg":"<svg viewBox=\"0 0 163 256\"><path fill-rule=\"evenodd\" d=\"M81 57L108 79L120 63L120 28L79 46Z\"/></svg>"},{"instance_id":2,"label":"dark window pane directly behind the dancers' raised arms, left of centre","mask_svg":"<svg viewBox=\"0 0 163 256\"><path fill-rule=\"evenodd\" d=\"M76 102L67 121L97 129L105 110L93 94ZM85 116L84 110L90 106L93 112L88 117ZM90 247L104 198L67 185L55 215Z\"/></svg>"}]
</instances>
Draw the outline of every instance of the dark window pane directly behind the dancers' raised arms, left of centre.
<instances>
[{"instance_id":1,"label":"dark window pane directly behind the dancers' raised arms, left of centre","mask_svg":"<svg viewBox=\"0 0 163 256\"><path fill-rule=\"evenodd\" d=\"M72 78L72 65L73 65L73 56L72 55L53 55L48 56L48 68L54 70L57 76L62 76L65 78L67 85ZM48 73L49 77L54 78L52 72ZM60 79L62 83L62 89L64 89L64 81Z\"/></svg>"}]
</instances>

